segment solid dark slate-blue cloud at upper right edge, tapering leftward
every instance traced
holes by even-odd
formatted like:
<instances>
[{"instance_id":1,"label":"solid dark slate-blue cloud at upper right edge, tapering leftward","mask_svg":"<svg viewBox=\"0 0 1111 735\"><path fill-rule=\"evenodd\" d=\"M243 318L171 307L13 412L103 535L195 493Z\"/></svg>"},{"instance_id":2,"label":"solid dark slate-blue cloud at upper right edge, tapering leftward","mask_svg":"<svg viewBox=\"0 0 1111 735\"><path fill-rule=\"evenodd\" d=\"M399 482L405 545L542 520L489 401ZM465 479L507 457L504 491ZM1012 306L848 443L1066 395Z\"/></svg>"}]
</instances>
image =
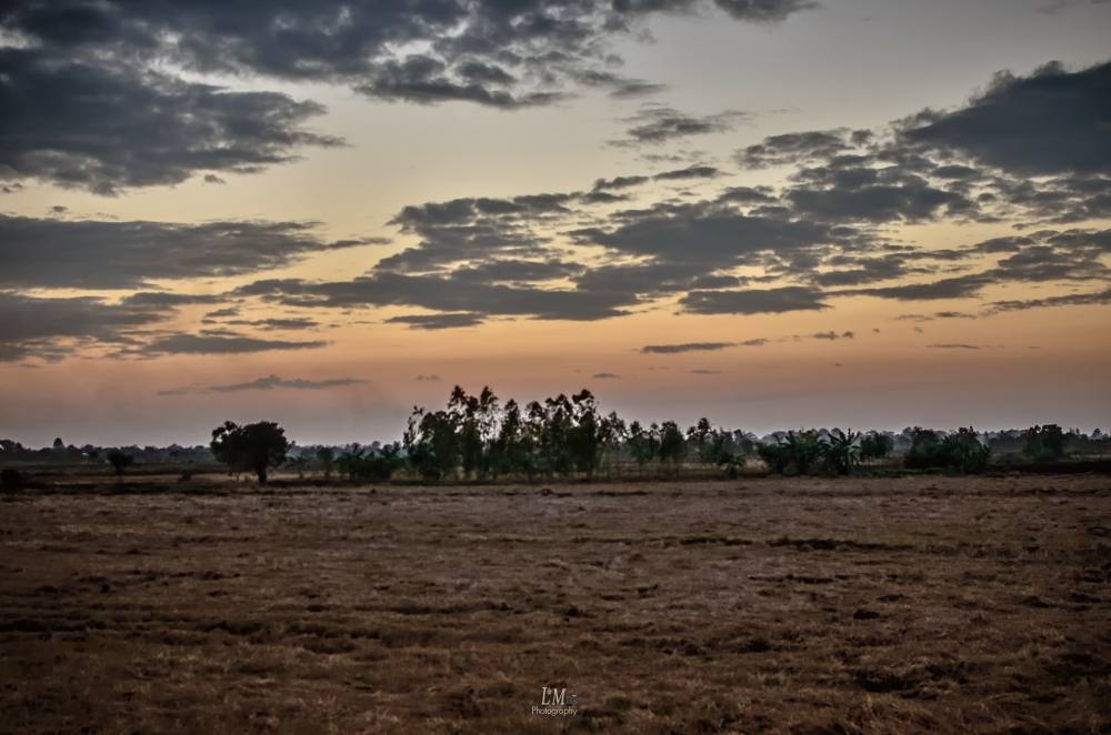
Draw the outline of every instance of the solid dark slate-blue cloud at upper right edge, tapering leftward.
<instances>
[{"instance_id":1,"label":"solid dark slate-blue cloud at upper right edge, tapering leftward","mask_svg":"<svg viewBox=\"0 0 1111 735\"><path fill-rule=\"evenodd\" d=\"M1050 62L1029 77L1000 72L967 107L924 110L904 144L968 157L1018 175L1111 172L1111 62L1069 72Z\"/></svg>"}]
</instances>

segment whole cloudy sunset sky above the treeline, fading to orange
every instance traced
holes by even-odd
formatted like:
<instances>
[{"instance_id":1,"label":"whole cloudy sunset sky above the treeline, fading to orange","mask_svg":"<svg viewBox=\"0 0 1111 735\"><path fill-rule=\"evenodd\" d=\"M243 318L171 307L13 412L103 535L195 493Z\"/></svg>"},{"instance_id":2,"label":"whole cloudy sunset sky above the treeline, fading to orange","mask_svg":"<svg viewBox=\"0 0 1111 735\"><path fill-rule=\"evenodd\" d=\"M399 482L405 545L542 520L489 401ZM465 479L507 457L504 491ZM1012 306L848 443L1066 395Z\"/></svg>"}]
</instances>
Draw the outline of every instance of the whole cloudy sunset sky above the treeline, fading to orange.
<instances>
[{"instance_id":1,"label":"whole cloudy sunset sky above the treeline, fading to orange","mask_svg":"<svg viewBox=\"0 0 1111 735\"><path fill-rule=\"evenodd\" d=\"M0 8L0 436L1111 424L1108 0Z\"/></svg>"}]
</instances>

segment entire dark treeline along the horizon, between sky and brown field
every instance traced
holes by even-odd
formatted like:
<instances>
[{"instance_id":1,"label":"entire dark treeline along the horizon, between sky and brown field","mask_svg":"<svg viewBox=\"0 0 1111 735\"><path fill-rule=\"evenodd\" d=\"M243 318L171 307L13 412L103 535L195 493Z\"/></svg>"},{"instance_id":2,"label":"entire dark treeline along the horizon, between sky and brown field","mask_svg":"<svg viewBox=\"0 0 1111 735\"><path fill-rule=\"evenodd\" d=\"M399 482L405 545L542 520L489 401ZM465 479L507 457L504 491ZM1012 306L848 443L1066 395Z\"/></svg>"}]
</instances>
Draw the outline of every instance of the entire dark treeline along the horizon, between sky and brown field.
<instances>
[{"instance_id":1,"label":"entire dark treeline along the horizon, between sky and brown field","mask_svg":"<svg viewBox=\"0 0 1111 735\"><path fill-rule=\"evenodd\" d=\"M0 440L0 464L109 464L119 475L133 464L186 465L220 462L230 472L250 472L266 482L286 466L300 476L334 474L350 480L489 481L497 479L584 479L678 476L745 470L777 474L850 474L863 469L901 467L982 472L990 462L1058 462L1068 454L1102 456L1111 441L1057 424L978 433L972 427L902 432L801 429L763 437L713 426L701 419L685 430L674 421L643 425L603 413L582 390L520 405L502 403L486 387L470 395L457 386L441 410L414 407L400 442L369 446L297 446L273 422L240 426L226 422L210 443L169 447L67 445L31 450ZM8 473L11 480L14 475Z\"/></svg>"}]
</instances>

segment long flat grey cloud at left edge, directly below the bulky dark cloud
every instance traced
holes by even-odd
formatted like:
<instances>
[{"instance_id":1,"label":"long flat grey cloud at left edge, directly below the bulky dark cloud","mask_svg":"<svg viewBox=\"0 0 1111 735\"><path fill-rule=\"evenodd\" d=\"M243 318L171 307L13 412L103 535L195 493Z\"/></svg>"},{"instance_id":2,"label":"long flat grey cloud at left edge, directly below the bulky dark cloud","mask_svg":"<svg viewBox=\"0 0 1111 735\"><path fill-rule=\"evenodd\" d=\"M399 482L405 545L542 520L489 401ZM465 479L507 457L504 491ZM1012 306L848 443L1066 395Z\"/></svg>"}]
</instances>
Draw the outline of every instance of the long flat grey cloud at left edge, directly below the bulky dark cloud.
<instances>
[{"instance_id":1,"label":"long flat grey cloud at left edge, directly below the bulky dark cloud","mask_svg":"<svg viewBox=\"0 0 1111 735\"><path fill-rule=\"evenodd\" d=\"M176 224L0 214L0 288L126 289L161 279L242 275L353 244L321 241L312 226L299 222Z\"/></svg>"}]
</instances>

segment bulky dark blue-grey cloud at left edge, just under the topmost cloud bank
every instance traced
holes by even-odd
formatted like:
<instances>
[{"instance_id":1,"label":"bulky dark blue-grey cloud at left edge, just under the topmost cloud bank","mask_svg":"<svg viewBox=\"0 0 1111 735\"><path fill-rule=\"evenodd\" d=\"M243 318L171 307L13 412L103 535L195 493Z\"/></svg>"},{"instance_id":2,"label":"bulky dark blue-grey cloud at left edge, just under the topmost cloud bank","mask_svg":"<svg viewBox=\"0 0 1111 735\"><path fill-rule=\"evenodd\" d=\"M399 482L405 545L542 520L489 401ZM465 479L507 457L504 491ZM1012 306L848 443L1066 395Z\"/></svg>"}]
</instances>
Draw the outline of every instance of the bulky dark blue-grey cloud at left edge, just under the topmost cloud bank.
<instances>
[{"instance_id":1,"label":"bulky dark blue-grey cloud at left edge, just under the topmost cloud bank","mask_svg":"<svg viewBox=\"0 0 1111 735\"><path fill-rule=\"evenodd\" d=\"M89 6L91 8L91 6ZM304 123L314 102L232 92L128 63L0 48L0 163L18 178L113 195L196 174L253 173L340 140Z\"/></svg>"}]
</instances>

